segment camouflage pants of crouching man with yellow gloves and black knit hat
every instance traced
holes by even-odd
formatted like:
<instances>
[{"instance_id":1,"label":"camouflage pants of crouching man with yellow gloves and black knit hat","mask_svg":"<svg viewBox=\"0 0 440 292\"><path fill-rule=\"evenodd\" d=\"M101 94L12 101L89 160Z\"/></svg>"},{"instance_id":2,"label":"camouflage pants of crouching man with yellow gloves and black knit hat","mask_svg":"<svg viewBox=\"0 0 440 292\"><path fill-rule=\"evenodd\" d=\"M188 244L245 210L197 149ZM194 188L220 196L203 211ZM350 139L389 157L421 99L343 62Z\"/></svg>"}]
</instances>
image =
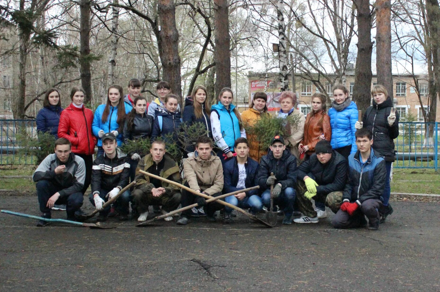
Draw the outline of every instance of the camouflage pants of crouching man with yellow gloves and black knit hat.
<instances>
[{"instance_id":1,"label":"camouflage pants of crouching man with yellow gloves and black knit hat","mask_svg":"<svg viewBox=\"0 0 440 292\"><path fill-rule=\"evenodd\" d=\"M304 196L305 192L307 192L307 188L303 180L297 180L296 190L298 211L301 211L305 216L315 218L317 214L313 209L312 201ZM329 207L332 212L337 213L342 204L342 192L337 191L329 194L317 194L313 197L313 200L315 200L315 202L325 202L325 205Z\"/></svg>"}]
</instances>

